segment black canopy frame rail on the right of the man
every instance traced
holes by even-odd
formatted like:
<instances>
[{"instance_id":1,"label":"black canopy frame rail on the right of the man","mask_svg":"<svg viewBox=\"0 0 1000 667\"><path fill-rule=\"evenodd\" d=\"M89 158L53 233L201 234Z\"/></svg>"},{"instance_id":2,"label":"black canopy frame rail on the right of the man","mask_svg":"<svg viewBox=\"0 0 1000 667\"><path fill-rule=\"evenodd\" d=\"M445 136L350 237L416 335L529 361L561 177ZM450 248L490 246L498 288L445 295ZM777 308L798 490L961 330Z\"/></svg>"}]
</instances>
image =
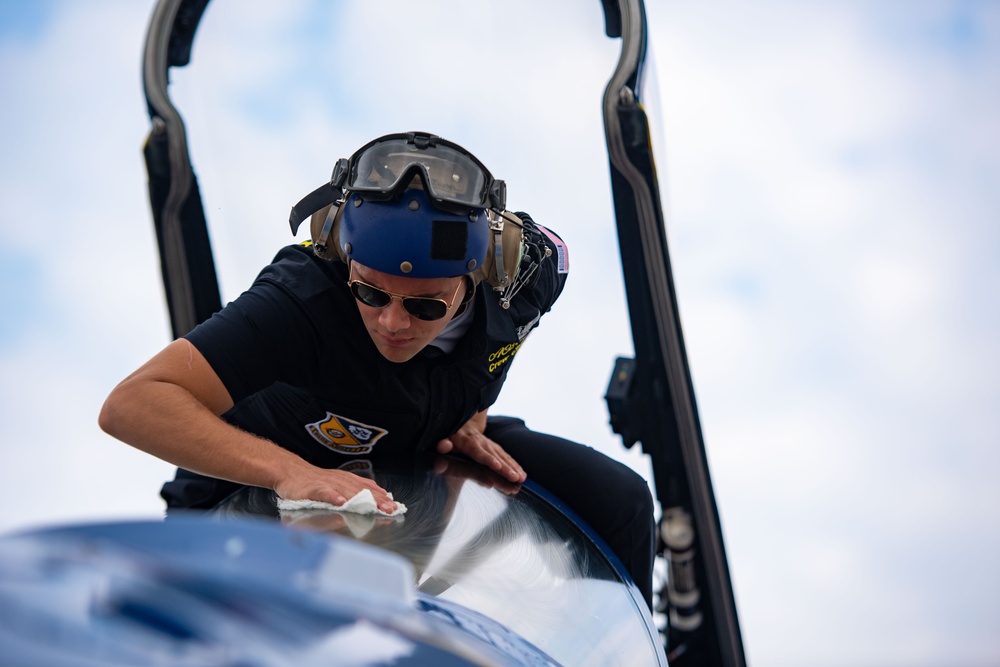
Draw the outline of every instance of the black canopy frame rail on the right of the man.
<instances>
[{"instance_id":1,"label":"black canopy frame rail on the right of the man","mask_svg":"<svg viewBox=\"0 0 1000 667\"><path fill-rule=\"evenodd\" d=\"M693 522L693 545L683 557L673 554L671 559L670 545L665 549L674 566L671 576L682 580L693 574L689 587L695 590L680 592L706 591L707 600L697 605L700 625L688 631L670 628L670 655L678 664L742 666L742 634L681 329L649 120L642 106L645 8L642 0L602 2L608 36L622 38L603 111L635 349L635 359L619 358L615 364L606 395L611 423L626 446L641 441L649 454L664 514Z\"/></svg>"}]
</instances>

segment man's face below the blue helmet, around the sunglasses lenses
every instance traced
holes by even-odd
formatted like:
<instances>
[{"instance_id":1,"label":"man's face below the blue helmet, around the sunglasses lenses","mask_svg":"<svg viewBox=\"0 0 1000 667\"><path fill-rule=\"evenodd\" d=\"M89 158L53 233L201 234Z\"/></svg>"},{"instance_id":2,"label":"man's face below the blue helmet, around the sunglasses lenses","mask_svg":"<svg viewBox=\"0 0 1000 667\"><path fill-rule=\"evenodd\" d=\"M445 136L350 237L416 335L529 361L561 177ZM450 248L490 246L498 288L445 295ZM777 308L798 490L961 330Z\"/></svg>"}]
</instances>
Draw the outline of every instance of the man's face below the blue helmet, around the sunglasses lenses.
<instances>
[{"instance_id":1,"label":"man's face below the blue helmet, around the sunglasses lenses","mask_svg":"<svg viewBox=\"0 0 1000 667\"><path fill-rule=\"evenodd\" d=\"M465 278L403 278L352 263L353 278L373 287L406 296L442 299L450 303L447 314L439 320L425 321L410 315L403 308L402 300L393 298L384 308L373 308L357 301L358 312L364 320L368 335L375 347L389 361L402 363L412 359L428 343L444 331L462 303L464 291L460 289Z\"/></svg>"}]
</instances>

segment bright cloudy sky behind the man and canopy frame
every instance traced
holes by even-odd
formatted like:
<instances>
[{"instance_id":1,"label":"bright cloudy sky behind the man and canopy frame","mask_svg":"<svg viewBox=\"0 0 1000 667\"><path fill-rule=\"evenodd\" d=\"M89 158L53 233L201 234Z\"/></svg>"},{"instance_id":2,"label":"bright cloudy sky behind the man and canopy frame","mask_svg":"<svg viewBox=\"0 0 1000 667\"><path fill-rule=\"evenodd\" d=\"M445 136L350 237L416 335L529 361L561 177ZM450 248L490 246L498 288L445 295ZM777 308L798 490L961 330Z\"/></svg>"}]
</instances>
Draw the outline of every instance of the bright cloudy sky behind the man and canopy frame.
<instances>
[{"instance_id":1,"label":"bright cloudy sky behind the man and canopy frame","mask_svg":"<svg viewBox=\"0 0 1000 667\"><path fill-rule=\"evenodd\" d=\"M141 146L153 2L0 0L0 531L155 517L104 436L169 340ZM419 7L419 10L418 10ZM649 0L685 338L753 665L1000 664L1000 4ZM648 475L600 3L215 0L171 93L224 300L334 161L423 129L570 245L497 412ZM299 239L301 240L301 238Z\"/></svg>"}]
</instances>

